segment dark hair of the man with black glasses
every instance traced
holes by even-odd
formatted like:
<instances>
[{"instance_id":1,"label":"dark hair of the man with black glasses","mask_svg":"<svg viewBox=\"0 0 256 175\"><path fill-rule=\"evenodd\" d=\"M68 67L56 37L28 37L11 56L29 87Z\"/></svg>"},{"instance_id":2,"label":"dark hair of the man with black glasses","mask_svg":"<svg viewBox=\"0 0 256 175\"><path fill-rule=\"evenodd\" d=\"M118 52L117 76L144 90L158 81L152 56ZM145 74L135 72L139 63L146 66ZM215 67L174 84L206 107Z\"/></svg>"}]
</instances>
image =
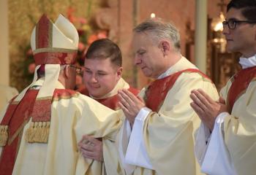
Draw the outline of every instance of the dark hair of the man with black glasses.
<instances>
[{"instance_id":1,"label":"dark hair of the man with black glasses","mask_svg":"<svg viewBox=\"0 0 256 175\"><path fill-rule=\"evenodd\" d=\"M241 9L242 15L247 20L256 20L256 0L231 0L227 4L227 12L231 8Z\"/></svg>"}]
</instances>

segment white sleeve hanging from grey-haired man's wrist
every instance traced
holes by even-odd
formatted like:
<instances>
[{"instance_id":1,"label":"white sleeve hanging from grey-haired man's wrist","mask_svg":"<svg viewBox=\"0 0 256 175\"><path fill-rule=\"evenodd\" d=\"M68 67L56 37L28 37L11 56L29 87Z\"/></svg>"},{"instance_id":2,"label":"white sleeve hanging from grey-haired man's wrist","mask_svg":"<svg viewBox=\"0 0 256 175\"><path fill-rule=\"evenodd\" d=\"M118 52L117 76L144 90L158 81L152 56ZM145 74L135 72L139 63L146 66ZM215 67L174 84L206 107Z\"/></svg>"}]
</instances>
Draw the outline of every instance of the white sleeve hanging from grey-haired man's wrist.
<instances>
[{"instance_id":1,"label":"white sleeve hanging from grey-haired man's wrist","mask_svg":"<svg viewBox=\"0 0 256 175\"><path fill-rule=\"evenodd\" d=\"M135 123L132 127L132 133L125 155L125 162L134 166L153 169L143 140L143 126L150 112L151 109L144 107L140 109L140 112L135 117Z\"/></svg>"}]
</instances>

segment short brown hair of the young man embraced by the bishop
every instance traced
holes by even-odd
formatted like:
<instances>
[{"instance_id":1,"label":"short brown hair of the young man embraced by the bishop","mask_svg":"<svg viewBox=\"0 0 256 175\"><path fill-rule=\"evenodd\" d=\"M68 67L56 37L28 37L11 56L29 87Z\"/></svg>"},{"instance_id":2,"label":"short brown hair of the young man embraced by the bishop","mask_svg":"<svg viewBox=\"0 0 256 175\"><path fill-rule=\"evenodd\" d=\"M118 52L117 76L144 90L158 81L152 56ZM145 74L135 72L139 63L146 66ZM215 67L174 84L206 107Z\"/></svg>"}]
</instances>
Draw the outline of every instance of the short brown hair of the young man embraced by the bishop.
<instances>
[{"instance_id":1,"label":"short brown hair of the young man embraced by the bishop","mask_svg":"<svg viewBox=\"0 0 256 175\"><path fill-rule=\"evenodd\" d=\"M122 56L118 45L110 39L98 39L91 43L87 52L86 59L107 59L110 58L111 63L121 66Z\"/></svg>"}]
</instances>

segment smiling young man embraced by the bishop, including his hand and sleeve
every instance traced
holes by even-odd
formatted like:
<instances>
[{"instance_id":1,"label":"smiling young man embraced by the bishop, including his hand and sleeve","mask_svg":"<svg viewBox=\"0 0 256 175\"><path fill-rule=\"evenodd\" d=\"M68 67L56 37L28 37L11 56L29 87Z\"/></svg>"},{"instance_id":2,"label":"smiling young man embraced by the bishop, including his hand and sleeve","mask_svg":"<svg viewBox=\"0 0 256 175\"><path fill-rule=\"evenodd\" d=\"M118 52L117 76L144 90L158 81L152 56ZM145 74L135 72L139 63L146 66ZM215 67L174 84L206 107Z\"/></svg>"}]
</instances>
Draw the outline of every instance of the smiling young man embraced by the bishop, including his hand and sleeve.
<instances>
[{"instance_id":1,"label":"smiling young man embraced by the bishop, including his hand and sleeve","mask_svg":"<svg viewBox=\"0 0 256 175\"><path fill-rule=\"evenodd\" d=\"M83 82L86 88L81 93L113 110L119 109L118 90L127 89L137 96L139 90L130 87L121 78L123 71L121 64L122 55L117 44L110 39L99 39L93 42L86 52L83 73ZM108 174L116 174L108 169L109 163L119 165L115 141L105 141L102 144L102 141L94 139L92 136L83 136L79 146L84 158L102 161L104 157L103 168L100 167L100 163L98 164L99 171L105 167ZM103 152L103 150L105 151ZM107 160L107 158L111 159Z\"/></svg>"}]
</instances>

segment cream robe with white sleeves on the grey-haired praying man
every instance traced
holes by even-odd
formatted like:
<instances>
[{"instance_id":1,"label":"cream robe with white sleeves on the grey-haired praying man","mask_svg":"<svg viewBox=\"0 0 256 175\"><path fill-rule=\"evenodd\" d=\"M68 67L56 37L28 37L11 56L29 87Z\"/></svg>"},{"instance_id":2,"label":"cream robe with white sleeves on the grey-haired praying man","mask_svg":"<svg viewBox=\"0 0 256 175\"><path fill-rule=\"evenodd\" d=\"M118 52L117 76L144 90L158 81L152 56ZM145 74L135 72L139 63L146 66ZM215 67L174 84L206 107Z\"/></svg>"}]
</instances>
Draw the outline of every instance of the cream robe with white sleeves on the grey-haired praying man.
<instances>
[{"instance_id":1,"label":"cream robe with white sleeves on the grey-haired praying man","mask_svg":"<svg viewBox=\"0 0 256 175\"><path fill-rule=\"evenodd\" d=\"M181 58L164 77L184 69L195 69L195 66ZM159 112L146 109L146 116L136 117L130 136L129 125L124 123L118 134L118 147L127 174L200 174L194 155L194 133L200 119L190 106L189 98L191 90L198 88L218 99L217 90L209 79L184 72L168 91ZM141 97L145 96L145 91L141 91ZM148 168L141 167L142 164Z\"/></svg>"}]
</instances>

